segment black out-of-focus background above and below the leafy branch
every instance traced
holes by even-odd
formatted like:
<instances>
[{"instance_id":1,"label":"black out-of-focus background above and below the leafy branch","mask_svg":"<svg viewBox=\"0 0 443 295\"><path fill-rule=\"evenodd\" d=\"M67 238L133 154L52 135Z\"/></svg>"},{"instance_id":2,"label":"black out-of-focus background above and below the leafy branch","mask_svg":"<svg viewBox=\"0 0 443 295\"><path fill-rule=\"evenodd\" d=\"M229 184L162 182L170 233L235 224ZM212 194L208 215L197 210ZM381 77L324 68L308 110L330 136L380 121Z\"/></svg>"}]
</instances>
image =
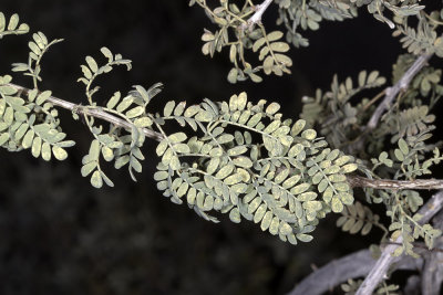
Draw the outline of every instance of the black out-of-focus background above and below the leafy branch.
<instances>
[{"instance_id":1,"label":"black out-of-focus background above and below the leafy branch","mask_svg":"<svg viewBox=\"0 0 443 295\"><path fill-rule=\"evenodd\" d=\"M361 11L361 18L322 23L308 32L310 46L291 50L293 75L261 84L231 85L227 52L210 60L200 53L204 28L214 30L202 9L187 1L6 0L0 11L18 12L31 31L64 38L43 60L41 88L85 103L76 78L85 55L109 46L133 61L99 82L97 98L132 85L165 84L155 98L159 110L169 99L227 99L247 91L249 98L277 101L297 118L302 95L328 88L332 75L380 70L390 77L402 52L388 25ZM265 22L274 27L275 8ZM25 62L30 34L0 41L0 73ZM16 83L31 86L14 75ZM309 244L292 246L262 233L250 222L222 217L213 224L186 206L157 192L156 143L148 140L138 182L125 169L109 169L115 188L96 190L80 175L91 136L63 113L62 126L78 144L63 162L33 159L29 151L0 150L0 294L284 294L312 267L368 246L368 240L340 233L337 217L321 222Z\"/></svg>"}]
</instances>

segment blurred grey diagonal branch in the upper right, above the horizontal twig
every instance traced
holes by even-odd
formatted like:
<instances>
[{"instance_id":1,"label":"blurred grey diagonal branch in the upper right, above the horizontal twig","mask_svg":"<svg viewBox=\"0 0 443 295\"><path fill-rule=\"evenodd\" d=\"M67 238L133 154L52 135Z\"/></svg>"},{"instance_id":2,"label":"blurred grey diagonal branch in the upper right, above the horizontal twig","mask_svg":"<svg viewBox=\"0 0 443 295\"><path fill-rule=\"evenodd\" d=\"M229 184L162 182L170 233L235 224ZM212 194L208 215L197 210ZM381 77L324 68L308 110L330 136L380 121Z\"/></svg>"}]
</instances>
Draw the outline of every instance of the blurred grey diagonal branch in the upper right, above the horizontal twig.
<instances>
[{"instance_id":1,"label":"blurred grey diagonal branch in the upper right, above the horizontal twig","mask_svg":"<svg viewBox=\"0 0 443 295\"><path fill-rule=\"evenodd\" d=\"M399 92L408 88L412 78L423 69L431 56L432 54L420 55L412 66L406 71L406 73L404 73L404 75L395 83L395 85L385 89L387 95L384 96L383 102L380 103L375 112L372 114L372 117L369 119L367 130L372 130L377 127L384 110L389 108Z\"/></svg>"}]
</instances>

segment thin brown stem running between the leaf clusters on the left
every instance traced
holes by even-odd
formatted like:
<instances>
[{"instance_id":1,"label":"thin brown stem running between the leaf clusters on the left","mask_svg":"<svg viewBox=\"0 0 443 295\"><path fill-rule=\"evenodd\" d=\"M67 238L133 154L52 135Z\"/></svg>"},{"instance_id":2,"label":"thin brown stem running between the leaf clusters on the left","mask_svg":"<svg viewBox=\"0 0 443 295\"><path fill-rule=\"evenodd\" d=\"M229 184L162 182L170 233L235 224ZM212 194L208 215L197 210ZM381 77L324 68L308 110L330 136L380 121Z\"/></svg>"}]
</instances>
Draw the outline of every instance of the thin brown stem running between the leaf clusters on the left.
<instances>
[{"instance_id":1,"label":"thin brown stem running between the leaf clusters on the left","mask_svg":"<svg viewBox=\"0 0 443 295\"><path fill-rule=\"evenodd\" d=\"M14 87L16 89L18 89L21 93L29 92L28 88L24 88L22 86L16 85L16 84L8 84L8 85L11 87ZM86 115L86 116L106 120L106 122L109 122L117 127L122 127L128 131L131 131L132 127L133 127L133 125L131 123L128 123L122 118L119 118L117 116L111 115L111 114L106 113L105 110L101 109L100 107L89 108L87 106L76 105L76 104L66 102L64 99L58 98L55 96L49 97L48 102L50 102L54 106L59 106L59 107L69 109L71 112L75 112L79 115ZM159 133L156 133L154 130L143 128L143 133L145 134L146 137L155 139L157 141L163 139L163 135Z\"/></svg>"}]
</instances>

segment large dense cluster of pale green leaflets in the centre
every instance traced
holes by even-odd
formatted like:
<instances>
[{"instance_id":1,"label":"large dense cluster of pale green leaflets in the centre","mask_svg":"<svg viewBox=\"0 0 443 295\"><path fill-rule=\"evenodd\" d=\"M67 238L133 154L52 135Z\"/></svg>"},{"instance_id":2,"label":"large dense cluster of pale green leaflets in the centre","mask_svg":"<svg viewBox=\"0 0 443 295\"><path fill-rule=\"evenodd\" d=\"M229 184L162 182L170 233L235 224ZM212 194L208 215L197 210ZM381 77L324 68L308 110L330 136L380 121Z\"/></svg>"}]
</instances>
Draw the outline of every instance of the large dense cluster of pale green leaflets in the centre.
<instances>
[{"instance_id":1,"label":"large dense cluster of pale green leaflets in the centre","mask_svg":"<svg viewBox=\"0 0 443 295\"><path fill-rule=\"evenodd\" d=\"M253 104L246 93L187 108L167 103L155 119L162 133L161 125L175 120L203 135L175 133L158 144L157 188L175 203L186 199L207 220L217 222L208 211L229 212L233 222L260 223L282 241L310 241L320 218L352 203L346 173L358 167L305 120L282 120L279 108Z\"/></svg>"}]
</instances>

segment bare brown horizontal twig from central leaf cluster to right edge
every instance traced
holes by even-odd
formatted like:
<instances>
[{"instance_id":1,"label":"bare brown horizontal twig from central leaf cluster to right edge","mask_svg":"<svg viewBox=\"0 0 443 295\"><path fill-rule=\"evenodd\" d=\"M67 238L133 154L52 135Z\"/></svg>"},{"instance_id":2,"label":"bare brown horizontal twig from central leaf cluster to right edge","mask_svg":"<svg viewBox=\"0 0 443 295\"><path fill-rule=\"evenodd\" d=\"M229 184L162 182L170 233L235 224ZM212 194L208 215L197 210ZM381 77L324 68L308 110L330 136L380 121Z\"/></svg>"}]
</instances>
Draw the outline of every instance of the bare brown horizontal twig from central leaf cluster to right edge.
<instances>
[{"instance_id":1,"label":"bare brown horizontal twig from central leaf cluster to right edge","mask_svg":"<svg viewBox=\"0 0 443 295\"><path fill-rule=\"evenodd\" d=\"M360 176L348 176L349 183L353 188L373 189L414 189L414 190L440 190L443 189L442 179L414 179L414 180L390 180L369 179Z\"/></svg>"}]
</instances>

